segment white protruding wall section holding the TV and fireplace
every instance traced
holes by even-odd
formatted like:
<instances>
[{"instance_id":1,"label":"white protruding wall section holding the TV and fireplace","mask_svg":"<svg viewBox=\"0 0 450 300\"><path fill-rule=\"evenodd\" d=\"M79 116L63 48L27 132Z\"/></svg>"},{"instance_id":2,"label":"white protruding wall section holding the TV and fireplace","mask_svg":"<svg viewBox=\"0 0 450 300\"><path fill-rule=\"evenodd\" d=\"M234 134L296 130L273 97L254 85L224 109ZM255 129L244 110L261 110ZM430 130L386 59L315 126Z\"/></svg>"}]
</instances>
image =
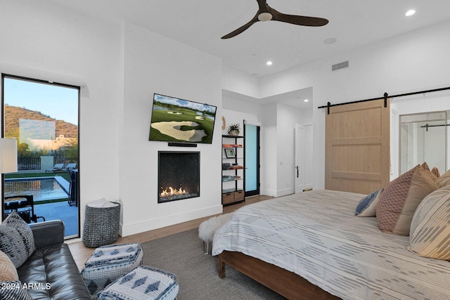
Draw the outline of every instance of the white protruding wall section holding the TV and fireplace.
<instances>
[{"instance_id":1,"label":"white protruding wall section holding the TV and fireplace","mask_svg":"<svg viewBox=\"0 0 450 300\"><path fill-rule=\"evenodd\" d=\"M124 37L122 235L220 213L221 60L135 25L125 25ZM212 145L148 141L153 93L216 105ZM200 197L158 204L159 150L200 152Z\"/></svg>"}]
</instances>

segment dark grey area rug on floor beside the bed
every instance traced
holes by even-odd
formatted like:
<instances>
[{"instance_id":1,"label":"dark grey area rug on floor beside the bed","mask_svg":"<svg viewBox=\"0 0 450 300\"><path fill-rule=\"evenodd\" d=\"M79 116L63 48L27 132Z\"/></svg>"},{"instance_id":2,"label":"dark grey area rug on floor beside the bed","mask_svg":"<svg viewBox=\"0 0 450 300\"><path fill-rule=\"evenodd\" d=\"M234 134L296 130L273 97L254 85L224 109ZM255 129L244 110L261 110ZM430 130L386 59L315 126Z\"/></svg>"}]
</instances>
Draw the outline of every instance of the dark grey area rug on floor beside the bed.
<instances>
[{"instance_id":1,"label":"dark grey area rug on floor beside the bed","mask_svg":"<svg viewBox=\"0 0 450 300\"><path fill-rule=\"evenodd\" d=\"M167 270L179 280L178 300L285 299L255 280L226 266L217 275L217 256L205 255L198 228L142 243L143 264Z\"/></svg>"}]
</instances>

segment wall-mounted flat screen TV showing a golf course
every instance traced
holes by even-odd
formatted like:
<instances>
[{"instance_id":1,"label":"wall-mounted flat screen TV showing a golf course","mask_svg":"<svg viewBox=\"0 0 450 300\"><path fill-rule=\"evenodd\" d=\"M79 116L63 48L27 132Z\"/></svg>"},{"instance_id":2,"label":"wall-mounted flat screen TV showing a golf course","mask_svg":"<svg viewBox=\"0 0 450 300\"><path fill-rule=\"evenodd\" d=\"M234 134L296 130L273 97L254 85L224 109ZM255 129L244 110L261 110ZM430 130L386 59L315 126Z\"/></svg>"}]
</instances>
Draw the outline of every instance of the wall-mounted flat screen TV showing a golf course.
<instances>
[{"instance_id":1,"label":"wall-mounted flat screen TV showing a golf course","mask_svg":"<svg viewBox=\"0 0 450 300\"><path fill-rule=\"evenodd\" d=\"M149 141L212 143L217 107L153 95Z\"/></svg>"}]
</instances>

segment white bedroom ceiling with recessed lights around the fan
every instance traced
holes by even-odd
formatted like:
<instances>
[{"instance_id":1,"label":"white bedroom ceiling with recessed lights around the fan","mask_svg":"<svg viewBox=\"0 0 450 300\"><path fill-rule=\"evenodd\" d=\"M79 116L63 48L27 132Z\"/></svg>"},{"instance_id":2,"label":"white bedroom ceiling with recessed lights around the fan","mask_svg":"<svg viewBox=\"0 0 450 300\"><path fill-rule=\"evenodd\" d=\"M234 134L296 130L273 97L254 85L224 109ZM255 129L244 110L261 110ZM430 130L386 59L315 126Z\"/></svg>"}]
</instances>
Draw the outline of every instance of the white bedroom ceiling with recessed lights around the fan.
<instances>
[{"instance_id":1,"label":"white bedroom ceiling with recessed lights around the fan","mask_svg":"<svg viewBox=\"0 0 450 300\"><path fill-rule=\"evenodd\" d=\"M449 0L268 0L282 13L330 20L323 27L257 22L231 39L224 34L248 22L256 0L50 0L97 18L124 20L222 58L254 77L290 69L450 19ZM411 17L409 9L417 12ZM334 38L333 44L325 44ZM271 60L271 66L266 61Z\"/></svg>"}]
</instances>

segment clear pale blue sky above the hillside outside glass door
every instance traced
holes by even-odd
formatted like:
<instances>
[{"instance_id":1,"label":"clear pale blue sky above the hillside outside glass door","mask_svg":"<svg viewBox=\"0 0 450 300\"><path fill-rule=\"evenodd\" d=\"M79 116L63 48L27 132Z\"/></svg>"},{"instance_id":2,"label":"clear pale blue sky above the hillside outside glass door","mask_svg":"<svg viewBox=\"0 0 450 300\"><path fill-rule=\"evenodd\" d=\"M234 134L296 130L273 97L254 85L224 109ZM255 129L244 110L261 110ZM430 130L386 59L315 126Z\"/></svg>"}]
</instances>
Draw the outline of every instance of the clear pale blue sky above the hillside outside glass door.
<instances>
[{"instance_id":1,"label":"clear pale blue sky above the hillside outside glass door","mask_svg":"<svg viewBox=\"0 0 450 300\"><path fill-rule=\"evenodd\" d=\"M78 125L78 89L5 77L4 103Z\"/></svg>"}]
</instances>

